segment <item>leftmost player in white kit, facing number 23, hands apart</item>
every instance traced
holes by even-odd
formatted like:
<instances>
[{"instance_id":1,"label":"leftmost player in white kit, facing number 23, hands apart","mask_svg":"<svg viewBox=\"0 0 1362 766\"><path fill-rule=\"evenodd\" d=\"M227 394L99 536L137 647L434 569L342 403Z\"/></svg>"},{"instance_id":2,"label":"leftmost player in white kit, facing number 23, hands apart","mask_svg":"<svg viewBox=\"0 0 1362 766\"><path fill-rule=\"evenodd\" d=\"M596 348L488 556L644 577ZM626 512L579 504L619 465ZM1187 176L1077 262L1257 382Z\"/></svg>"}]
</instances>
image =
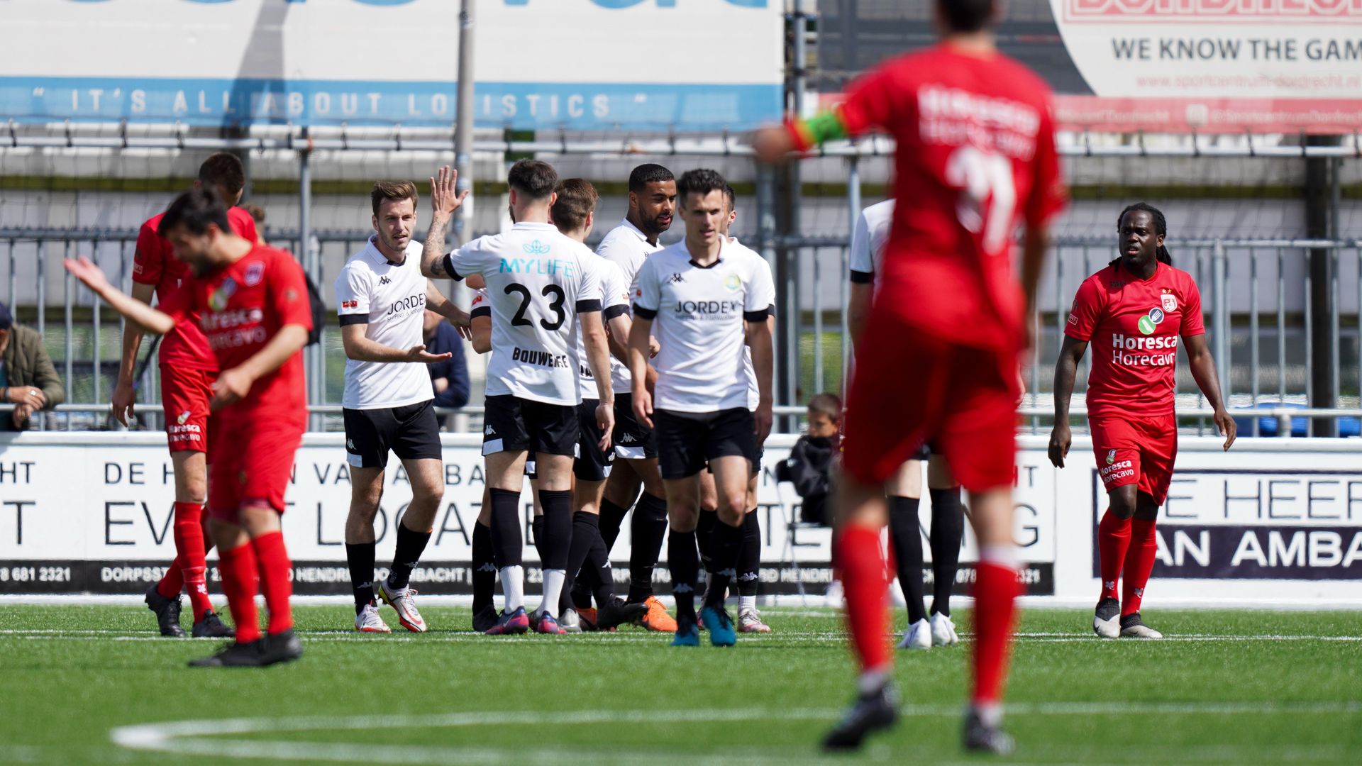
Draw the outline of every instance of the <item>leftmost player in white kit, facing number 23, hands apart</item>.
<instances>
[{"instance_id":1,"label":"leftmost player in white kit, facing number 23, hands apart","mask_svg":"<svg viewBox=\"0 0 1362 766\"><path fill-rule=\"evenodd\" d=\"M345 345L343 416L350 463L350 514L346 518L346 560L354 589L354 628L391 632L379 616L375 594L398 612L413 632L426 624L409 586L421 559L434 514L444 496L444 462L426 364L449 354L426 353L422 318L426 308L467 327L469 316L440 294L421 274L417 187L411 181L379 181L370 192L373 229L369 244L336 277L336 311ZM402 461L411 481L411 503L396 523L396 552L385 579L375 582L373 518L383 497L388 453Z\"/></svg>"}]
</instances>

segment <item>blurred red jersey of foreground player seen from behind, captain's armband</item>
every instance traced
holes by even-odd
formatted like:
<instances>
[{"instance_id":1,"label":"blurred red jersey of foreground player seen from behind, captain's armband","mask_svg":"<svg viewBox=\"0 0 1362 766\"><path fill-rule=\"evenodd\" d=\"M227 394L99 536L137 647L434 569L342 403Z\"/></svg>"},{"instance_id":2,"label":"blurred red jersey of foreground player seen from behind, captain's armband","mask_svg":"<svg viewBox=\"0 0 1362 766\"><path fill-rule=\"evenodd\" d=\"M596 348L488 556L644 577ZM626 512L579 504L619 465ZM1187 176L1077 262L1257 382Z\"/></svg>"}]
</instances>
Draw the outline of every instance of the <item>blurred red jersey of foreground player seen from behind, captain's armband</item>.
<instances>
[{"instance_id":1,"label":"blurred red jersey of foreground player seen from behind, captain's armband","mask_svg":"<svg viewBox=\"0 0 1362 766\"><path fill-rule=\"evenodd\" d=\"M898 142L876 301L953 343L1019 348L1026 304L1013 232L1019 218L1039 226L1066 200L1050 89L1001 53L937 45L853 83L842 120L851 135L883 128Z\"/></svg>"}]
</instances>

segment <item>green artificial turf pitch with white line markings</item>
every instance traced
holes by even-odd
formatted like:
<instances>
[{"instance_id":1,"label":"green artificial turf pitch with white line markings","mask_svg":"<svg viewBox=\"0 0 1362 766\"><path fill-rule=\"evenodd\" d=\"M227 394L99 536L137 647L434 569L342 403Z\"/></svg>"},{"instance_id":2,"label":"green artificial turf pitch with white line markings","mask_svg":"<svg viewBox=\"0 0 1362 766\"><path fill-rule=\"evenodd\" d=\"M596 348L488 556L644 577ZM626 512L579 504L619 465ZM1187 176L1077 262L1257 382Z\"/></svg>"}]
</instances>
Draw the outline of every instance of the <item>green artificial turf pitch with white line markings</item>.
<instances>
[{"instance_id":1,"label":"green artificial turf pitch with white line markings","mask_svg":"<svg viewBox=\"0 0 1362 766\"><path fill-rule=\"evenodd\" d=\"M189 669L217 643L162 639L143 608L3 605L0 762L785 766L825 761L851 698L831 611L768 609L775 632L734 649L637 628L489 638L466 608L424 613L425 635L387 608L398 632L358 635L347 605L300 607L298 662ZM1099 641L1091 619L1023 616L1011 762L1362 761L1362 613L1145 613L1162 642ZM838 762L981 761L959 750L968 612L956 622L962 645L896 653L899 725Z\"/></svg>"}]
</instances>

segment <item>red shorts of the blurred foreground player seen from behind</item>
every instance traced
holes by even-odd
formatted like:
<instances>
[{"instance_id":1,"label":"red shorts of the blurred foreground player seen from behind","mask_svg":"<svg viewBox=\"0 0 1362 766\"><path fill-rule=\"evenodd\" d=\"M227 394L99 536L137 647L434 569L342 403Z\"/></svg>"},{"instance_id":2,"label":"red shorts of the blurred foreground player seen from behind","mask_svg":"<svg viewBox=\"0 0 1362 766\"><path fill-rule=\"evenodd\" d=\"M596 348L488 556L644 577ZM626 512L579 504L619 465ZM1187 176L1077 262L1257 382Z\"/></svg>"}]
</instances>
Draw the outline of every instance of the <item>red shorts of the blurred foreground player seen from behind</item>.
<instances>
[{"instance_id":1,"label":"red shorts of the blurred foreground player seen from behind","mask_svg":"<svg viewBox=\"0 0 1362 766\"><path fill-rule=\"evenodd\" d=\"M926 442L971 492L1011 487L1016 465L1016 354L943 341L874 312L846 406L842 468L880 484Z\"/></svg>"}]
</instances>

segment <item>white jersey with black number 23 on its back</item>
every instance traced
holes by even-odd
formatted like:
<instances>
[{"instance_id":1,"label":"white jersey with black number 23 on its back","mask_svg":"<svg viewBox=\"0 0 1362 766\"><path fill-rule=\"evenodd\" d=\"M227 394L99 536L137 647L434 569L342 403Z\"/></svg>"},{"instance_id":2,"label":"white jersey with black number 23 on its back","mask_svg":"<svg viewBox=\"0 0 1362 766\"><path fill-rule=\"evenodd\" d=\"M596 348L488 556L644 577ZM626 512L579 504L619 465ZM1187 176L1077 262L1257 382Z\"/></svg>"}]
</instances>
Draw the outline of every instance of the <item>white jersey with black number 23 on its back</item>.
<instances>
[{"instance_id":1,"label":"white jersey with black number 23 on its back","mask_svg":"<svg viewBox=\"0 0 1362 766\"><path fill-rule=\"evenodd\" d=\"M444 256L462 279L482 274L492 304L488 395L576 405L577 313L601 311L599 259L552 224L520 222Z\"/></svg>"}]
</instances>

